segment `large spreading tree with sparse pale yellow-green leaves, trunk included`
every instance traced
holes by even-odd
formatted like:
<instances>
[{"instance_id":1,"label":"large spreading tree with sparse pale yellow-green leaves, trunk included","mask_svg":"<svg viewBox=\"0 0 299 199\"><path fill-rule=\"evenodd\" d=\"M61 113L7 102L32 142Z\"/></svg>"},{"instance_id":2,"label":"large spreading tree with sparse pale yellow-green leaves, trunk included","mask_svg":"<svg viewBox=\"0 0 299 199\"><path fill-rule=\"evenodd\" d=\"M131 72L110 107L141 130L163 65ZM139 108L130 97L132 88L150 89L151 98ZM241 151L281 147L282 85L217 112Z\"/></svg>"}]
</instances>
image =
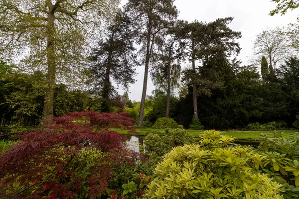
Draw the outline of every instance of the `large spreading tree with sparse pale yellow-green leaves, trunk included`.
<instances>
[{"instance_id":1,"label":"large spreading tree with sparse pale yellow-green leaves, trunk included","mask_svg":"<svg viewBox=\"0 0 299 199\"><path fill-rule=\"evenodd\" d=\"M3 57L23 56L18 59L21 67L46 71L43 119L53 117L55 81L76 79L85 64L88 39L117 4L117 0L0 1Z\"/></svg>"}]
</instances>

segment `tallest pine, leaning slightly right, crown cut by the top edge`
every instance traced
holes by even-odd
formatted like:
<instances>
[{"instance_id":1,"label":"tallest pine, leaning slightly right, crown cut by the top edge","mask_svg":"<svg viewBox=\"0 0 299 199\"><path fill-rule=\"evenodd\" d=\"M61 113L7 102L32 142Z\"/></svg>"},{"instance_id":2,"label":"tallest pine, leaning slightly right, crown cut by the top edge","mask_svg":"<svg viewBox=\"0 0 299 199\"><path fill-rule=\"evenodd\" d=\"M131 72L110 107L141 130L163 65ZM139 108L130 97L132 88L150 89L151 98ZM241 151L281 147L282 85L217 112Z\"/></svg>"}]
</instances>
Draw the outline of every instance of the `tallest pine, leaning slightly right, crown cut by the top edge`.
<instances>
[{"instance_id":1,"label":"tallest pine, leaning slightly right, crown cut by the top edge","mask_svg":"<svg viewBox=\"0 0 299 199\"><path fill-rule=\"evenodd\" d=\"M147 84L150 60L154 58L155 45L160 41L160 34L168 23L177 16L174 0L129 0L125 5L131 20L138 31L137 43L145 63L145 75L138 125L143 125L144 109L147 96Z\"/></svg>"}]
</instances>

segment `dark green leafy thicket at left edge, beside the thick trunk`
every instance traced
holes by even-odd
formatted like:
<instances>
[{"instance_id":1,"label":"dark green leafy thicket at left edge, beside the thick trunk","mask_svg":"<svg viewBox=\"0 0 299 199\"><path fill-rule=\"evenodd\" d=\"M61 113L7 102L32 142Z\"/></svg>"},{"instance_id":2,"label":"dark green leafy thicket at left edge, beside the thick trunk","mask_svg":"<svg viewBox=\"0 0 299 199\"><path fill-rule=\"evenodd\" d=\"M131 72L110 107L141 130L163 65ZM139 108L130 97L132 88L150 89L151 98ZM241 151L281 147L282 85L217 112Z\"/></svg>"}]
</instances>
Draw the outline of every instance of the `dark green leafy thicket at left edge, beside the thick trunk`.
<instances>
[{"instance_id":1,"label":"dark green leafy thicket at left edge, beside the thick trunk","mask_svg":"<svg viewBox=\"0 0 299 199\"><path fill-rule=\"evenodd\" d=\"M4 126L38 125L42 116L45 76L40 71L25 74L7 70L0 76L0 123Z\"/></svg>"}]
</instances>

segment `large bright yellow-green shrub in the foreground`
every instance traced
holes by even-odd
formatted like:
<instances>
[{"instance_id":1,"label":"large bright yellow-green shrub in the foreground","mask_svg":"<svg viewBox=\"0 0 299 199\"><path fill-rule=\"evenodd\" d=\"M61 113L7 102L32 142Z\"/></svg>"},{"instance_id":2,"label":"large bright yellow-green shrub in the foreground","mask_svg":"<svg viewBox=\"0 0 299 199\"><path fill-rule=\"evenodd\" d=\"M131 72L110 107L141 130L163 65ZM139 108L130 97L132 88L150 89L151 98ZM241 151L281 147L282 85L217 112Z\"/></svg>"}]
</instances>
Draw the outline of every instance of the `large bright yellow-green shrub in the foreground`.
<instances>
[{"instance_id":1,"label":"large bright yellow-green shrub in the foreground","mask_svg":"<svg viewBox=\"0 0 299 199\"><path fill-rule=\"evenodd\" d=\"M282 199L282 185L259 173L261 156L234 139L206 131L199 145L167 153L155 168L146 199Z\"/></svg>"}]
</instances>

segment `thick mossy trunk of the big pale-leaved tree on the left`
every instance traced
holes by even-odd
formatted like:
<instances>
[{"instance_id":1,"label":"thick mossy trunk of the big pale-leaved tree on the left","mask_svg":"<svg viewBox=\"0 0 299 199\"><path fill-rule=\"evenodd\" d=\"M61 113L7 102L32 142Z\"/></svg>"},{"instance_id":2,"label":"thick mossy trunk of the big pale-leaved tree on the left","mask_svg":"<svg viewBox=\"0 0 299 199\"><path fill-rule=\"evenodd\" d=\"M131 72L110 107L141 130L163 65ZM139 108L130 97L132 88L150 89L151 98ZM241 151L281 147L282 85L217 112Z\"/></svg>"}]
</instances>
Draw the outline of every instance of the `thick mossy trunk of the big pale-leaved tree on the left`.
<instances>
[{"instance_id":1,"label":"thick mossy trunk of the big pale-leaved tree on the left","mask_svg":"<svg viewBox=\"0 0 299 199\"><path fill-rule=\"evenodd\" d=\"M55 63L55 46L54 46L54 25L55 15L54 9L49 7L48 22L47 22L47 88L45 91L45 100L43 108L43 120L53 117L53 104L54 104L54 86L56 76L56 63ZM45 124L43 124L45 125Z\"/></svg>"}]
</instances>

